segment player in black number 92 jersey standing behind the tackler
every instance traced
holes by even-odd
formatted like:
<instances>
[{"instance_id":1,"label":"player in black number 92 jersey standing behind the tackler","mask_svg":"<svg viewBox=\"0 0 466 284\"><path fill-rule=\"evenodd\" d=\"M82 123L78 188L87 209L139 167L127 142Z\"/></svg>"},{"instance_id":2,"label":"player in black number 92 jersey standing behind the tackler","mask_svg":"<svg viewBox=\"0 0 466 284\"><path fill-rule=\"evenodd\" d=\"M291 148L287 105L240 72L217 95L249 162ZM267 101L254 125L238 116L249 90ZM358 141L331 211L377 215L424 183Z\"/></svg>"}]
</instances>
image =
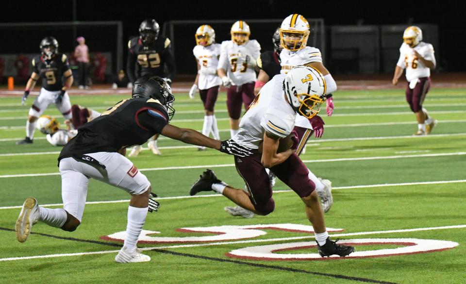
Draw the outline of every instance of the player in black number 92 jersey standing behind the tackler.
<instances>
[{"instance_id":1,"label":"player in black number 92 jersey standing behind the tackler","mask_svg":"<svg viewBox=\"0 0 466 284\"><path fill-rule=\"evenodd\" d=\"M170 39L159 36L159 32L159 24L154 19L146 19L139 25L139 37L128 42L126 73L130 83L144 75L152 75L171 84L176 72L175 59L171 54ZM158 135L150 138L148 147L154 154L160 155L157 138ZM136 146L129 155L137 156L141 150L141 146Z\"/></svg>"}]
</instances>

